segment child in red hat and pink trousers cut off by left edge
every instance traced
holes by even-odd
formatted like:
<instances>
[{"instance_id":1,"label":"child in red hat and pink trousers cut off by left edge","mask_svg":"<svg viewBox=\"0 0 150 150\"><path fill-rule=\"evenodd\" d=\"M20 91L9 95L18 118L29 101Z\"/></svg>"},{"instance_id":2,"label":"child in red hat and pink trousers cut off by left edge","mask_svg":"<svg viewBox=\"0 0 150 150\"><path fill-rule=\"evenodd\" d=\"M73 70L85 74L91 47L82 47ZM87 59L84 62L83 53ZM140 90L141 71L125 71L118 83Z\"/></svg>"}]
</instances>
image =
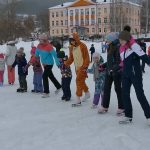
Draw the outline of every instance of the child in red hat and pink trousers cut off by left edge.
<instances>
[{"instance_id":1,"label":"child in red hat and pink trousers cut off by left edge","mask_svg":"<svg viewBox=\"0 0 150 150\"><path fill-rule=\"evenodd\" d=\"M4 54L0 53L0 86L3 86L5 71L5 58Z\"/></svg>"}]
</instances>

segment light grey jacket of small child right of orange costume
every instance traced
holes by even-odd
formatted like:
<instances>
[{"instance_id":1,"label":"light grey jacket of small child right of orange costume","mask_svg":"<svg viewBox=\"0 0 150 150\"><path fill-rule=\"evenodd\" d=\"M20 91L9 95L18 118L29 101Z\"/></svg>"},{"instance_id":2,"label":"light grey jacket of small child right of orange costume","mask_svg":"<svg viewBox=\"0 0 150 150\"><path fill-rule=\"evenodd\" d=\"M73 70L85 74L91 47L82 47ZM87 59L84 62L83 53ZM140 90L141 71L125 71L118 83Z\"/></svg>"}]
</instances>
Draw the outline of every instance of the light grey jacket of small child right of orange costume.
<instances>
[{"instance_id":1,"label":"light grey jacket of small child right of orange costume","mask_svg":"<svg viewBox=\"0 0 150 150\"><path fill-rule=\"evenodd\" d=\"M92 65L92 67L87 70L87 73L93 74L93 80L94 80L94 81L95 81L96 79L99 79L99 78L101 78L102 76L104 76L105 70L102 71L102 72L99 71L99 67L100 67L100 65L103 64L103 63L104 63L104 59L103 59L102 56L100 56L100 61L99 61L99 63L94 63L94 64Z\"/></svg>"}]
</instances>

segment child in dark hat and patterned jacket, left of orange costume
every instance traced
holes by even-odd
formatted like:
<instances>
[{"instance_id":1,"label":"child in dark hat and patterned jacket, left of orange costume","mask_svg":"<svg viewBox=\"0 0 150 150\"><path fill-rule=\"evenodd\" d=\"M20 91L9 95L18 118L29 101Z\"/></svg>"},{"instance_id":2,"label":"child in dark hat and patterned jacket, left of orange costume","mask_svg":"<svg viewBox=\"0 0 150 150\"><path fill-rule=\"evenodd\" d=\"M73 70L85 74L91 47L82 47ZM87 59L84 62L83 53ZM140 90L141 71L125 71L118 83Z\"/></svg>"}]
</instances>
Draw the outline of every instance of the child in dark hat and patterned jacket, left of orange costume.
<instances>
[{"instance_id":1,"label":"child in dark hat and patterned jacket, left of orange costume","mask_svg":"<svg viewBox=\"0 0 150 150\"><path fill-rule=\"evenodd\" d=\"M72 72L70 67L67 67L64 65L64 62L68 59L68 56L65 56L64 51L57 52L57 57L59 58L60 62L60 70L62 74L62 90L63 90L63 96L62 100L70 101L71 99L71 90L70 90L70 84L72 79Z\"/></svg>"}]
</instances>

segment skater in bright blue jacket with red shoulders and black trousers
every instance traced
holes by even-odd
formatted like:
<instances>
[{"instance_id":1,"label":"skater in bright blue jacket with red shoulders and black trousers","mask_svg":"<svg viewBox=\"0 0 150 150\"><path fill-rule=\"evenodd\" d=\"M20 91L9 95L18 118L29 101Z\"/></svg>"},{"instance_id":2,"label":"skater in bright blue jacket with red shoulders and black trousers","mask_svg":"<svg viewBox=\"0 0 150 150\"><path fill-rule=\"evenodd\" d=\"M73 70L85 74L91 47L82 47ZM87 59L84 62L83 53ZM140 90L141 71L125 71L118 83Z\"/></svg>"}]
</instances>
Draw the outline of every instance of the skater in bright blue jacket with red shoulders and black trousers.
<instances>
[{"instance_id":1,"label":"skater in bright blue jacket with red shoulders and black trousers","mask_svg":"<svg viewBox=\"0 0 150 150\"><path fill-rule=\"evenodd\" d=\"M48 41L48 36L46 34L41 34L39 36L40 43L37 46L35 56L40 57L41 63L44 67L43 72L43 86L44 86L44 94L43 98L49 97L49 82L48 78L50 78L51 82L56 87L55 93L57 94L61 91L61 85L55 78L52 68L54 65L54 60L57 66L60 65L59 60L57 58L57 53L54 50L53 46Z\"/></svg>"}]
</instances>

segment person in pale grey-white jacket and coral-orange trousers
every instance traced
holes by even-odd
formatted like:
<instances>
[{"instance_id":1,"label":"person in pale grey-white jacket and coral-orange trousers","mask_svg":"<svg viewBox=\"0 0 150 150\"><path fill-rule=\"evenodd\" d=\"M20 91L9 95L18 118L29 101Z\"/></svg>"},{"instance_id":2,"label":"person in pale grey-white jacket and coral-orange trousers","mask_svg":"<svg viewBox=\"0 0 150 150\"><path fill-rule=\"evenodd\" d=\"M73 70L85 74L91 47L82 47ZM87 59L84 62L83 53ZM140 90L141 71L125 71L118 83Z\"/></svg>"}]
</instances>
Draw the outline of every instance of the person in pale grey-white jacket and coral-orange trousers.
<instances>
[{"instance_id":1,"label":"person in pale grey-white jacket and coral-orange trousers","mask_svg":"<svg viewBox=\"0 0 150 150\"><path fill-rule=\"evenodd\" d=\"M15 61L15 56L17 53L17 47L15 46L15 41L9 41L7 43L7 48L6 48L6 65L7 65L7 70L8 70L8 83L10 85L13 85L15 82L15 68L11 69L12 64Z\"/></svg>"}]
</instances>

